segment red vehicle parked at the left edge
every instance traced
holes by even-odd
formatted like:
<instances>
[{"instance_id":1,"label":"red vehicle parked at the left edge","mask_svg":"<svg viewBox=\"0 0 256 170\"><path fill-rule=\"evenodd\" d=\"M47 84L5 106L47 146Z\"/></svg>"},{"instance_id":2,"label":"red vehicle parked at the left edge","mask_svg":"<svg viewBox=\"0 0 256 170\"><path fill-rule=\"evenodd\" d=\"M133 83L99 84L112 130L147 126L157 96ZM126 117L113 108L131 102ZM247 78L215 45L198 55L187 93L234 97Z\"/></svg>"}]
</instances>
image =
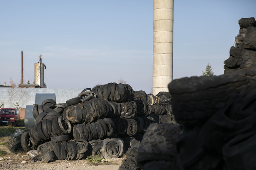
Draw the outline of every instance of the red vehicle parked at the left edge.
<instances>
[{"instance_id":1,"label":"red vehicle parked at the left edge","mask_svg":"<svg viewBox=\"0 0 256 170\"><path fill-rule=\"evenodd\" d=\"M0 123L7 124L12 123L15 126L19 125L19 110L13 108L1 108L0 109Z\"/></svg>"}]
</instances>

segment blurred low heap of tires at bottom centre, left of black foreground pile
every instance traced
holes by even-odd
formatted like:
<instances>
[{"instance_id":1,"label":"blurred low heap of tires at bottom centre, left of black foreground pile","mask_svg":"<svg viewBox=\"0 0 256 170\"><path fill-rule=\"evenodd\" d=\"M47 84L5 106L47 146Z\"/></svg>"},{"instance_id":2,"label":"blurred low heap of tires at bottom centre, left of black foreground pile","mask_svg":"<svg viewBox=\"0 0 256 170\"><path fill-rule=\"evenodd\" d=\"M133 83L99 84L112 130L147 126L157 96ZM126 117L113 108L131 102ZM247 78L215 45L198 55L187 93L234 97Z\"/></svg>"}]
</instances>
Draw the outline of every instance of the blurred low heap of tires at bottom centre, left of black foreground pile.
<instances>
[{"instance_id":1,"label":"blurred low heap of tires at bottom centre, left of black foreground pile","mask_svg":"<svg viewBox=\"0 0 256 170\"><path fill-rule=\"evenodd\" d=\"M180 126L177 124L152 123L143 135L138 149L128 150L128 159L123 162L121 169L179 169L175 140L180 133Z\"/></svg>"}]
</instances>

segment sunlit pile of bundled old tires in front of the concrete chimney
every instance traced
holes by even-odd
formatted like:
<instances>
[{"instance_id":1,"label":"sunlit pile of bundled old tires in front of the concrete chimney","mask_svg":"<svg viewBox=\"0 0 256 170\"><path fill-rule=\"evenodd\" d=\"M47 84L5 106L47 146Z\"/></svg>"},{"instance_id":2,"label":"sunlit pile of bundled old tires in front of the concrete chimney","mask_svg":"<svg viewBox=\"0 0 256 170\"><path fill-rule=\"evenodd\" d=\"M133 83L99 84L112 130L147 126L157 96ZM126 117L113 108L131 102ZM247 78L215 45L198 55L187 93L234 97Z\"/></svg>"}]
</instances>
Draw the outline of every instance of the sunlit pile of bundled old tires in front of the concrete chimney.
<instances>
[{"instance_id":1,"label":"sunlit pile of bundled old tires in front of the concrete chimney","mask_svg":"<svg viewBox=\"0 0 256 170\"><path fill-rule=\"evenodd\" d=\"M121 83L86 88L66 103L35 104L36 124L24 133L22 146L24 151L37 148L35 160L44 162L52 154L58 160L116 158L130 148L131 138L141 141L151 123L175 123L171 109L169 93L147 95Z\"/></svg>"}]
</instances>

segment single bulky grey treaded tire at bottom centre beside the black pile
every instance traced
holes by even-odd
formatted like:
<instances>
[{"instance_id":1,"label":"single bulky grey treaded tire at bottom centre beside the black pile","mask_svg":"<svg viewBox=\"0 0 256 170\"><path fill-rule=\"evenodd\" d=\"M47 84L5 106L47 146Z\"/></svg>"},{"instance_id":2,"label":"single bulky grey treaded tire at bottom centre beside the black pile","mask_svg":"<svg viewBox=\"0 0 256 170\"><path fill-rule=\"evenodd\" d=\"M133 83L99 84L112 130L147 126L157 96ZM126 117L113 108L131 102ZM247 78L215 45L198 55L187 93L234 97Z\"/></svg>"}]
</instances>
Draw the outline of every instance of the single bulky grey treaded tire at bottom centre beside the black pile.
<instances>
[{"instance_id":1,"label":"single bulky grey treaded tire at bottom centre beside the black pile","mask_svg":"<svg viewBox=\"0 0 256 170\"><path fill-rule=\"evenodd\" d=\"M180 135L178 125L172 123L153 123L143 136L136 160L143 167L149 160L173 162L177 156L175 139Z\"/></svg>"}]
</instances>

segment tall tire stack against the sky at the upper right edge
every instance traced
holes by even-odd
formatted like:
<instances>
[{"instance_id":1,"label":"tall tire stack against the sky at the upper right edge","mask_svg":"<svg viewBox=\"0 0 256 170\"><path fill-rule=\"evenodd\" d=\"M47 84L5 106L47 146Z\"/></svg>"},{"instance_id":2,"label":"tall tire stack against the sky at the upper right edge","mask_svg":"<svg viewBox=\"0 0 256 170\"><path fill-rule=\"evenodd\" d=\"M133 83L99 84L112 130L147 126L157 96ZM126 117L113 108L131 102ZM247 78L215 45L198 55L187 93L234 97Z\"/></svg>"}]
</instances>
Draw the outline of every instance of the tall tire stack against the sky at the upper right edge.
<instances>
[{"instance_id":1,"label":"tall tire stack against the sky at the upper right edge","mask_svg":"<svg viewBox=\"0 0 256 170\"><path fill-rule=\"evenodd\" d=\"M224 61L224 74L256 64L255 18L241 18L238 24L239 34L235 37L235 47L230 48L229 58Z\"/></svg>"}]
</instances>

